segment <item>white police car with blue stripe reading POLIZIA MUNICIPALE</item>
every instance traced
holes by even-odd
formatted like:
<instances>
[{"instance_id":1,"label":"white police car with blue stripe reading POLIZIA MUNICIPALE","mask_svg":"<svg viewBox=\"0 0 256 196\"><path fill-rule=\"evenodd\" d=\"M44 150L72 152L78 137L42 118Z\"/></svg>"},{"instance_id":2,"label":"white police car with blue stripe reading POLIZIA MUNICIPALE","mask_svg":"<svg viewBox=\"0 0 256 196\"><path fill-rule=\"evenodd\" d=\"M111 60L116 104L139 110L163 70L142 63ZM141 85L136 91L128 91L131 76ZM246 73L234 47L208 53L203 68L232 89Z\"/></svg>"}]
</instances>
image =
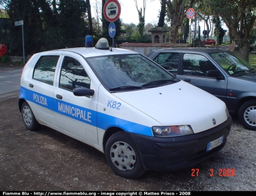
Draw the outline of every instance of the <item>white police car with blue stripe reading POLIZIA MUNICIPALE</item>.
<instances>
[{"instance_id":1,"label":"white police car with blue stripe reading POLIZIA MUNICIPALE","mask_svg":"<svg viewBox=\"0 0 256 196\"><path fill-rule=\"evenodd\" d=\"M225 146L232 123L220 99L105 38L34 54L19 110L28 130L44 124L93 146L128 178L202 162Z\"/></svg>"}]
</instances>

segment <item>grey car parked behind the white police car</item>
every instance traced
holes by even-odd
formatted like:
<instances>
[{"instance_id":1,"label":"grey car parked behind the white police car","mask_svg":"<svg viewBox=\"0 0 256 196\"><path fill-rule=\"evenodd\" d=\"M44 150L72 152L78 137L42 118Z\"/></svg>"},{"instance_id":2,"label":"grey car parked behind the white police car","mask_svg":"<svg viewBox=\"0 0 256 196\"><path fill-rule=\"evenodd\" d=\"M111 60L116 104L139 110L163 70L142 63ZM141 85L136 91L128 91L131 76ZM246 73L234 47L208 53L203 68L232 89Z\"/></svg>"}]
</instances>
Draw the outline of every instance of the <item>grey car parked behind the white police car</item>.
<instances>
[{"instance_id":1,"label":"grey car parked behind the white police car","mask_svg":"<svg viewBox=\"0 0 256 196\"><path fill-rule=\"evenodd\" d=\"M223 100L230 114L238 114L245 128L256 130L255 66L234 52L221 49L158 49L147 57L177 78Z\"/></svg>"}]
</instances>

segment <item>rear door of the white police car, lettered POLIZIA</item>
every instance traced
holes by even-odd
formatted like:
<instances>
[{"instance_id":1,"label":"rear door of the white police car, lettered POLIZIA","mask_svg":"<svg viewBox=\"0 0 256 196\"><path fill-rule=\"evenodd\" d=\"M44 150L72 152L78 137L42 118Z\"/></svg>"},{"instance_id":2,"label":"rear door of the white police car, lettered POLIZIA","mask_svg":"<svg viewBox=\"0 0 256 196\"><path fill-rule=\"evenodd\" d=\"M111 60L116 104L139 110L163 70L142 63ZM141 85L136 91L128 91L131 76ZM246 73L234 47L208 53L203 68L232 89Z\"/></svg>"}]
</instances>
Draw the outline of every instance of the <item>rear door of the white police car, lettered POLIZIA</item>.
<instances>
[{"instance_id":1,"label":"rear door of the white police car, lettered POLIZIA","mask_svg":"<svg viewBox=\"0 0 256 196\"><path fill-rule=\"evenodd\" d=\"M61 52L49 52L40 56L35 66L30 70L24 84L31 109L39 123L47 126L55 124L52 98L56 80L56 66L60 62Z\"/></svg>"}]
</instances>

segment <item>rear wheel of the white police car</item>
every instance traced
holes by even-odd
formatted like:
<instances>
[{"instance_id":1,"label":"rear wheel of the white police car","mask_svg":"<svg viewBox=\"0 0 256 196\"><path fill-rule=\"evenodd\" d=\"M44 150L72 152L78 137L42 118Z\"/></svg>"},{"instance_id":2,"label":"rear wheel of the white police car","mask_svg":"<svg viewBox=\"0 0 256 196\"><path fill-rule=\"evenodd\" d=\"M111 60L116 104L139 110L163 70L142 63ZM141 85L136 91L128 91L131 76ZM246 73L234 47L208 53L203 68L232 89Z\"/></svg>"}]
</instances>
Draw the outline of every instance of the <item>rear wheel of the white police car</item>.
<instances>
[{"instance_id":1,"label":"rear wheel of the white police car","mask_svg":"<svg viewBox=\"0 0 256 196\"><path fill-rule=\"evenodd\" d=\"M35 115L28 105L28 102L23 102L21 106L21 117L24 125L30 131L36 131L39 127L39 123L36 121Z\"/></svg>"}]
</instances>

